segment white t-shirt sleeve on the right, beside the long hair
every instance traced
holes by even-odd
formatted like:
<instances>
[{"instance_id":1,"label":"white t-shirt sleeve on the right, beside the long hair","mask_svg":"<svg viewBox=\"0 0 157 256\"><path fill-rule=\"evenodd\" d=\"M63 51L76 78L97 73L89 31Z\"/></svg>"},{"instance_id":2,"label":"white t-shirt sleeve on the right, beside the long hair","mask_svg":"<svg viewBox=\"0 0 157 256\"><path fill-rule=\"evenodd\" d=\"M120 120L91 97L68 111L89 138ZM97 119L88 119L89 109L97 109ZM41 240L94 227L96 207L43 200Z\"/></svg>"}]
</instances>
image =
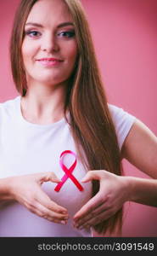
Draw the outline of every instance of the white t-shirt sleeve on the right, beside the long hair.
<instances>
[{"instance_id":1,"label":"white t-shirt sleeve on the right, beside the long hair","mask_svg":"<svg viewBox=\"0 0 157 256\"><path fill-rule=\"evenodd\" d=\"M119 148L121 150L122 145L136 120L136 117L131 113L124 111L123 108L118 108L115 105L108 104L108 107L115 125Z\"/></svg>"}]
</instances>

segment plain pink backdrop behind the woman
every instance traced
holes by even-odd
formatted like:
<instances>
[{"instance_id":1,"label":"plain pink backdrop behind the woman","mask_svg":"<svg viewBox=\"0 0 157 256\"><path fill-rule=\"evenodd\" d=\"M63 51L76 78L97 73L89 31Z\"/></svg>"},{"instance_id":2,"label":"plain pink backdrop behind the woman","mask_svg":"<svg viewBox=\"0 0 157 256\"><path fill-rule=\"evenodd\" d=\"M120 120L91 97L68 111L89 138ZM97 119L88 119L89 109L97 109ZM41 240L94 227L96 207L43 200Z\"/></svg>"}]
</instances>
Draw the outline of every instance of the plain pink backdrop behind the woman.
<instances>
[{"instance_id":1,"label":"plain pink backdrop behind the woman","mask_svg":"<svg viewBox=\"0 0 157 256\"><path fill-rule=\"evenodd\" d=\"M18 96L8 40L19 0L0 2L0 102ZM93 33L109 102L132 113L157 135L157 1L81 0ZM130 176L147 177L123 160ZM122 236L157 236L157 208L126 203Z\"/></svg>"}]
</instances>

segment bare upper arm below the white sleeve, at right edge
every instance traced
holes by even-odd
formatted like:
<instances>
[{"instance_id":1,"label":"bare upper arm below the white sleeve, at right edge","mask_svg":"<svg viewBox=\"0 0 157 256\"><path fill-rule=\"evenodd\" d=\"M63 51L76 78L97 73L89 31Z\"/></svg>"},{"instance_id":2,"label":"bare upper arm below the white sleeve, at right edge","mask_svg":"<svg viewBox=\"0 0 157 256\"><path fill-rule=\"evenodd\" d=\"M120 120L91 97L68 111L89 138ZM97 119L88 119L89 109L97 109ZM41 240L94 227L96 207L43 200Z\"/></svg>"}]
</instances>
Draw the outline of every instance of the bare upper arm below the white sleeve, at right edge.
<instances>
[{"instance_id":1,"label":"bare upper arm below the white sleeve, at right edge","mask_svg":"<svg viewBox=\"0 0 157 256\"><path fill-rule=\"evenodd\" d=\"M139 170L157 178L157 137L141 120L132 125L121 153Z\"/></svg>"}]
</instances>

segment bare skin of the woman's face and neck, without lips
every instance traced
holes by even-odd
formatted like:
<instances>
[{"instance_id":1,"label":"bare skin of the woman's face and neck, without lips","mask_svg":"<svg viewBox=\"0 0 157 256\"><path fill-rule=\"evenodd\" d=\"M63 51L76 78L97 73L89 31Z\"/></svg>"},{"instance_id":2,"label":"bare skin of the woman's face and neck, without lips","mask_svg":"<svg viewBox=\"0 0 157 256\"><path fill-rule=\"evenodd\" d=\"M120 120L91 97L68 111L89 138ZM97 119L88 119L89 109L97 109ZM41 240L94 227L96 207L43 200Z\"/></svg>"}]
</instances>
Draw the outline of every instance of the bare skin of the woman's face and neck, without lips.
<instances>
[{"instance_id":1,"label":"bare skin of the woman's face and neck, without lips","mask_svg":"<svg viewBox=\"0 0 157 256\"><path fill-rule=\"evenodd\" d=\"M27 25L32 22L43 27ZM61 26L65 22L72 20L62 0L38 1L25 22L22 56L28 90L21 108L28 121L46 125L64 116L65 91L77 56L74 26ZM56 67L36 61L48 57L63 61Z\"/></svg>"}]
</instances>

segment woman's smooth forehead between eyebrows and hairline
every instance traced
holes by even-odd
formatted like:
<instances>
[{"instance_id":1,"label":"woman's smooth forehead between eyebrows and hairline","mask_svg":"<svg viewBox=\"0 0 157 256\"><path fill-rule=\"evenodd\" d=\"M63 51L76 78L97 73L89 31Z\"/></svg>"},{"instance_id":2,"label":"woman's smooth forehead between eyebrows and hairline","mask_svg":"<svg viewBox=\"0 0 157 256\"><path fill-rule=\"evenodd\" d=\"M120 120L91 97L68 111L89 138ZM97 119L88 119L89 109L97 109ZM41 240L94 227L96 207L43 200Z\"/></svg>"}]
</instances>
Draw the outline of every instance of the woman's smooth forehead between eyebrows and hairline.
<instances>
[{"instance_id":1,"label":"woman's smooth forehead between eyebrows and hairline","mask_svg":"<svg viewBox=\"0 0 157 256\"><path fill-rule=\"evenodd\" d=\"M52 24L71 20L70 12L64 0L39 0L33 5L26 22Z\"/></svg>"}]
</instances>

